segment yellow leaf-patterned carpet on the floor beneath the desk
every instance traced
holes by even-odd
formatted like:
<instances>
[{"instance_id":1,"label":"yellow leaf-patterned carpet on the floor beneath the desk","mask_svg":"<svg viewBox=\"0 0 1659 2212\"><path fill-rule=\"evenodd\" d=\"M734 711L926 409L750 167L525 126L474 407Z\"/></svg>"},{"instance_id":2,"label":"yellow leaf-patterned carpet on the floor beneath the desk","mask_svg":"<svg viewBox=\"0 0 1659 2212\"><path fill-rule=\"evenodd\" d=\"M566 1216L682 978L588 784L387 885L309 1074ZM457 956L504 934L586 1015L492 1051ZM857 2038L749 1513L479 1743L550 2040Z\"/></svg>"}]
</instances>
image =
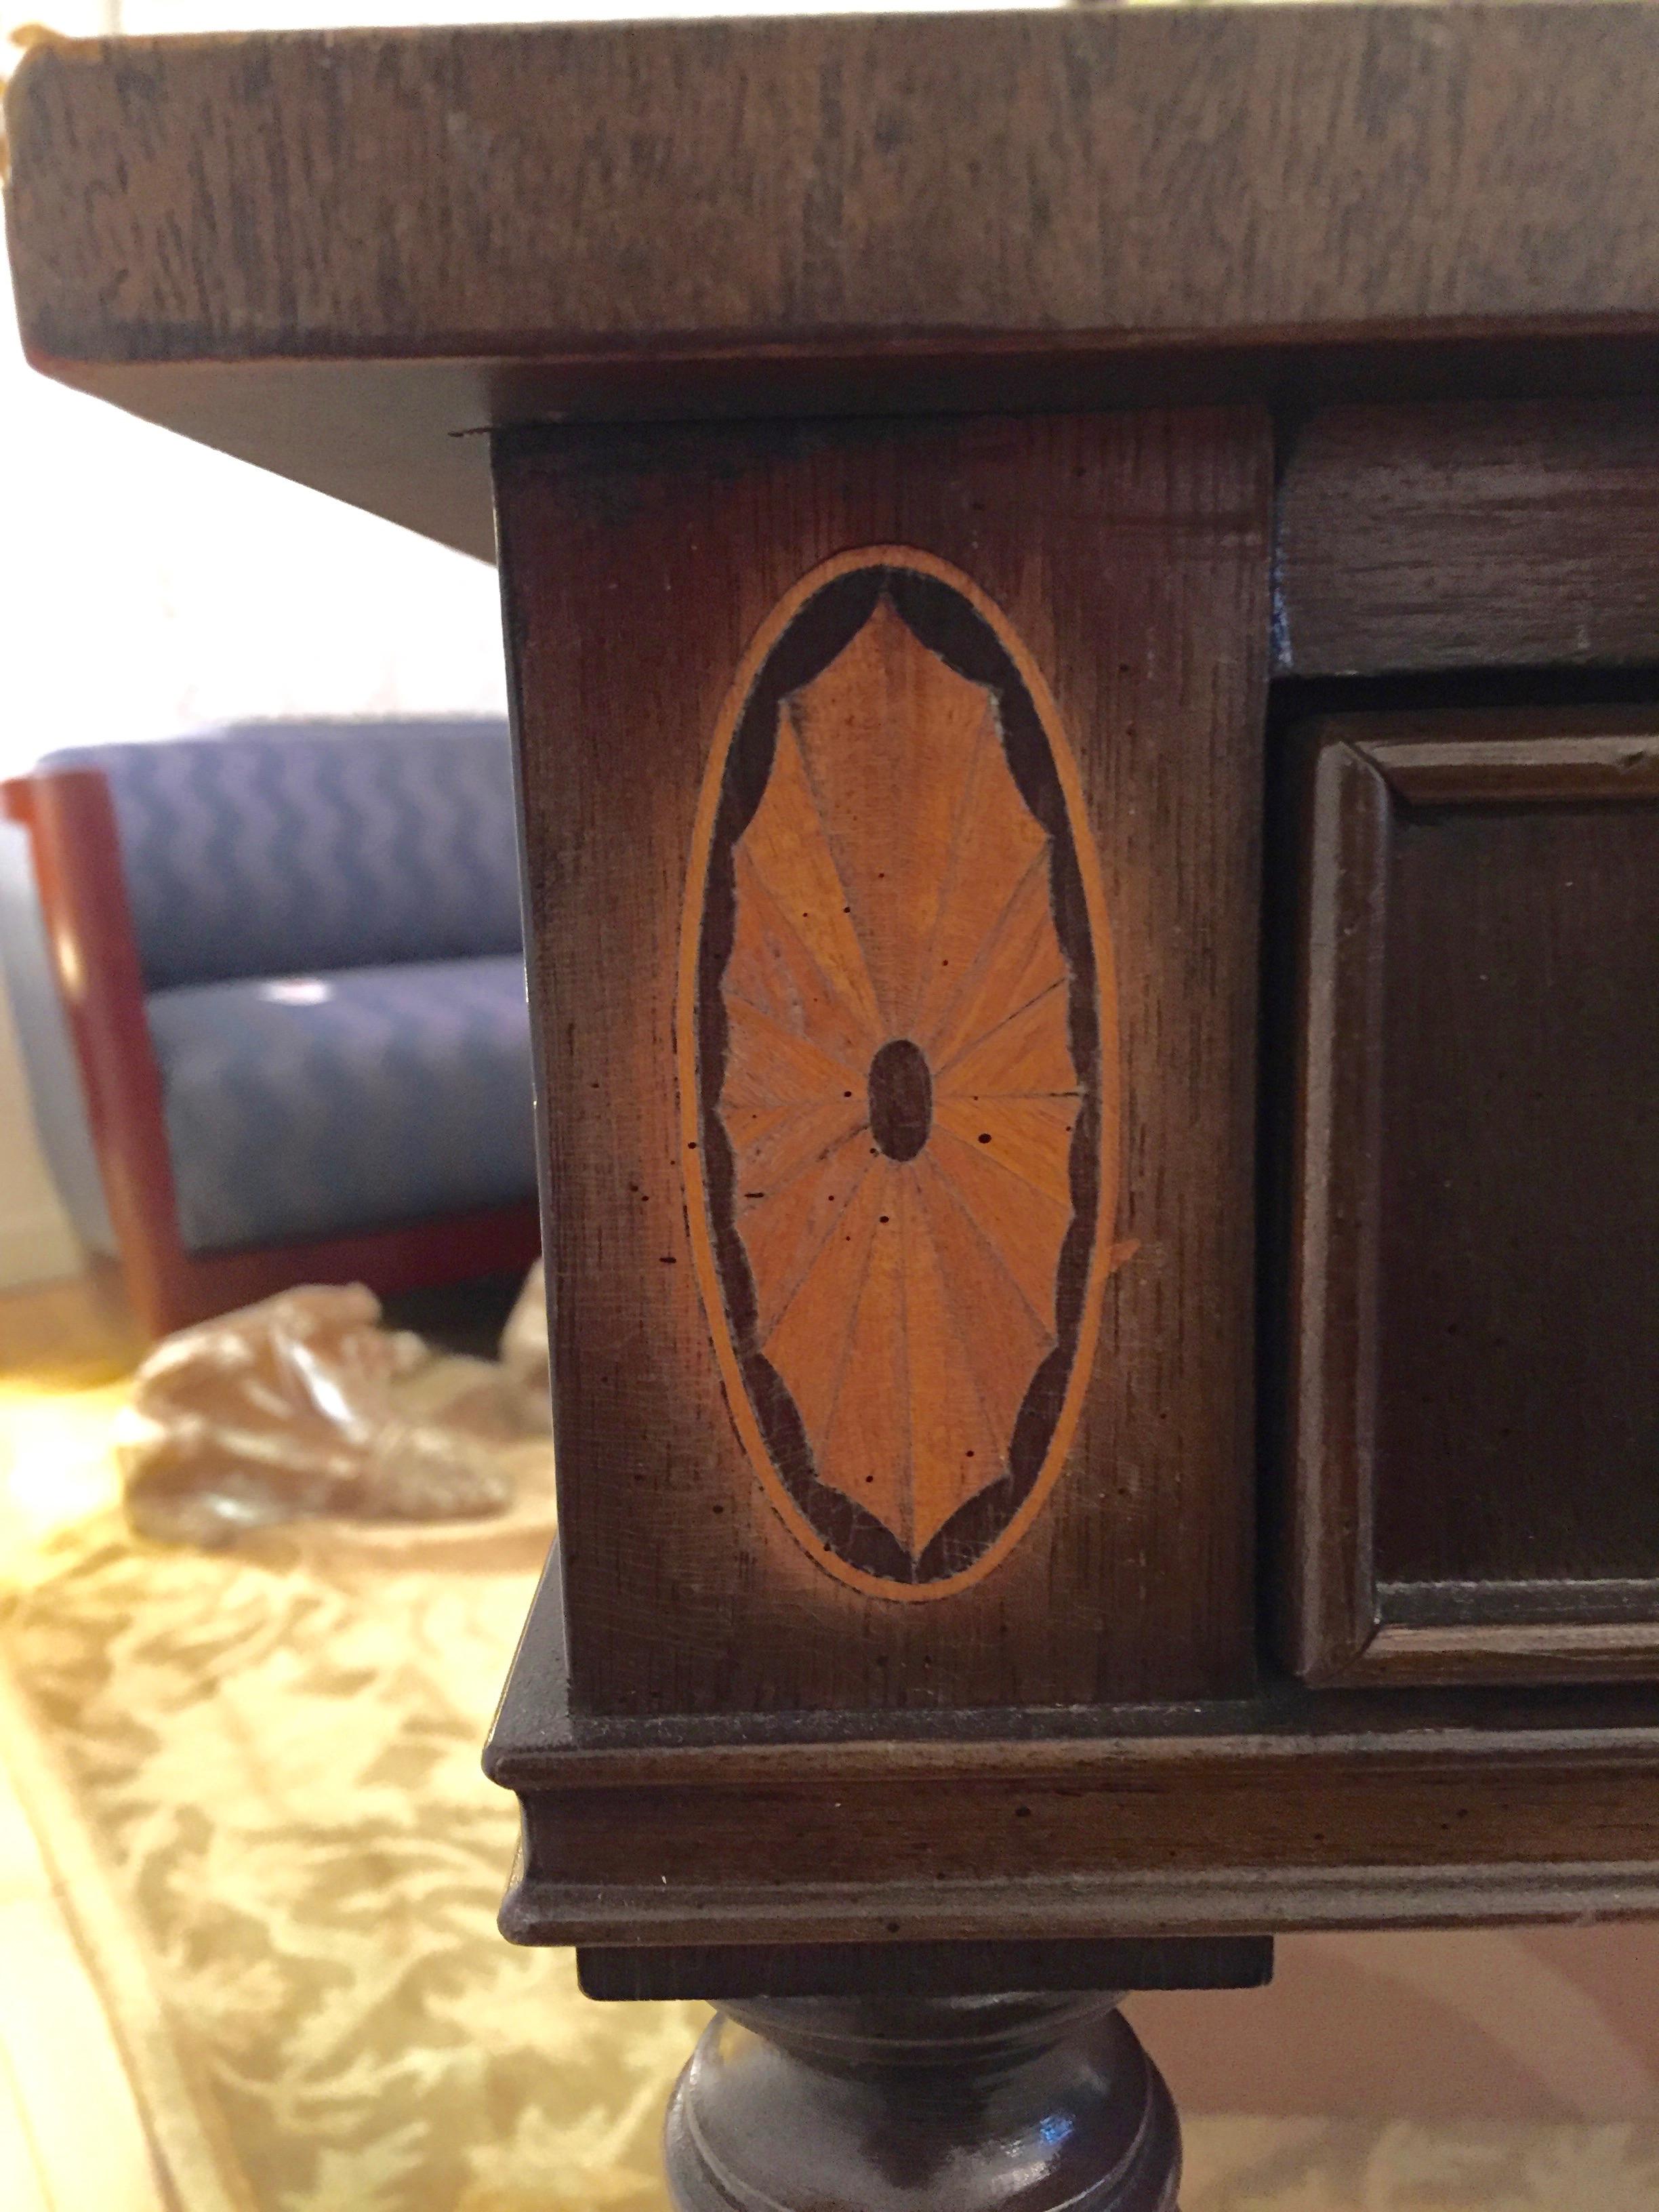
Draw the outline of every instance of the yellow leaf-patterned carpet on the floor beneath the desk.
<instances>
[{"instance_id":1,"label":"yellow leaf-patterned carpet on the floor beneath the desk","mask_svg":"<svg viewBox=\"0 0 1659 2212\"><path fill-rule=\"evenodd\" d=\"M0 1385L0 1750L177 2212L664 2212L701 2006L593 2006L493 1916L478 1745L551 1522L131 1537L119 1387ZM0 1978L9 1971L0 1958ZM1186 2212L1652 2212L1652 2126L1188 2126ZM108 2203L106 2212L126 2212Z\"/></svg>"}]
</instances>

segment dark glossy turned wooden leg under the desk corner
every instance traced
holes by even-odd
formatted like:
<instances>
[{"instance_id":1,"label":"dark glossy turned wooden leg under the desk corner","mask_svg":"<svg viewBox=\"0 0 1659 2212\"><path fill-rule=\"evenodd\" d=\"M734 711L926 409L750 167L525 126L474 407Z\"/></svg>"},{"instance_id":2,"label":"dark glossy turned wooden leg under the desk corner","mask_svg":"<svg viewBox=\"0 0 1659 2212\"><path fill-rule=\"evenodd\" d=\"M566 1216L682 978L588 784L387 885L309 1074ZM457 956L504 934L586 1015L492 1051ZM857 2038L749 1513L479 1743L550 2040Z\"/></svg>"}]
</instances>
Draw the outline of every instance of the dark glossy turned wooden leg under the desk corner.
<instances>
[{"instance_id":1,"label":"dark glossy turned wooden leg under the desk corner","mask_svg":"<svg viewBox=\"0 0 1659 2212\"><path fill-rule=\"evenodd\" d=\"M1179 2183L1108 1995L730 2004L668 2108L679 2212L1175 2212Z\"/></svg>"}]
</instances>

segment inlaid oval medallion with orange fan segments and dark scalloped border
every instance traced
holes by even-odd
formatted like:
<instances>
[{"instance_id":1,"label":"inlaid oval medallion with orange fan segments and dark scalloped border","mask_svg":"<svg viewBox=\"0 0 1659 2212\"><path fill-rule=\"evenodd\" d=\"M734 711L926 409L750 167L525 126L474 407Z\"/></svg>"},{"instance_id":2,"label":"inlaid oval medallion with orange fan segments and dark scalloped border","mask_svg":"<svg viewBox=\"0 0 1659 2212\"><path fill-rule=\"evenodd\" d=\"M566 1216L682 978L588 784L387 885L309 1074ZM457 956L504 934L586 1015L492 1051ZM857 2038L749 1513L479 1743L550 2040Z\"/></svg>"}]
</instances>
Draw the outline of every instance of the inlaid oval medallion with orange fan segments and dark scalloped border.
<instances>
[{"instance_id":1,"label":"inlaid oval medallion with orange fan segments and dark scalloped border","mask_svg":"<svg viewBox=\"0 0 1659 2212\"><path fill-rule=\"evenodd\" d=\"M1048 688L962 573L843 553L721 712L679 978L692 1248L812 1555L942 1597L1071 1447L1117 1186L1099 869Z\"/></svg>"}]
</instances>

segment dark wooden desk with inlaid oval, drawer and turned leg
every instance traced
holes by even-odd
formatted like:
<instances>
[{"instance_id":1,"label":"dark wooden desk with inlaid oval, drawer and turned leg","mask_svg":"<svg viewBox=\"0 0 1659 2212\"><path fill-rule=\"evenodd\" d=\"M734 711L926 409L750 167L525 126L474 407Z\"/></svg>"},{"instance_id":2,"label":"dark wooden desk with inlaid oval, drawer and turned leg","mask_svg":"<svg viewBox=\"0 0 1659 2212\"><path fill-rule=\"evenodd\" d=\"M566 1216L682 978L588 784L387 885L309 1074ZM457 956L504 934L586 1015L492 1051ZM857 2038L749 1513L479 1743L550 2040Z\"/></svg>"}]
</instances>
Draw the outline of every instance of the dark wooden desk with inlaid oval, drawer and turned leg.
<instances>
[{"instance_id":1,"label":"dark wooden desk with inlaid oval, drawer and turned leg","mask_svg":"<svg viewBox=\"0 0 1659 2212\"><path fill-rule=\"evenodd\" d=\"M1630 0L18 75L40 367L500 542L504 1927L759 2031L695 2212L1168 2205L1075 1991L1659 1909L1657 64Z\"/></svg>"}]
</instances>

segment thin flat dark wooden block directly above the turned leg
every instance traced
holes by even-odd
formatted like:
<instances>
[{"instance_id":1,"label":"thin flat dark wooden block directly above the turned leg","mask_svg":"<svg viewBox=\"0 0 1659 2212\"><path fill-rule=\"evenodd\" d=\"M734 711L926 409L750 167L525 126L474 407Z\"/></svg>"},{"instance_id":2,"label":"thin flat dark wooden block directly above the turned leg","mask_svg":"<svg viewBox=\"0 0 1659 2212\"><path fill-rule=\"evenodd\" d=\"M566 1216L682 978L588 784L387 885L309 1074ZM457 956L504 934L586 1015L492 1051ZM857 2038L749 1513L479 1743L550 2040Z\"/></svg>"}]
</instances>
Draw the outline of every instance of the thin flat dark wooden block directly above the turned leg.
<instances>
[{"instance_id":1,"label":"thin flat dark wooden block directly above the turned leg","mask_svg":"<svg viewBox=\"0 0 1659 2212\"><path fill-rule=\"evenodd\" d=\"M1265 1989L1270 1936L577 1951L588 1997L949 1997L987 1989Z\"/></svg>"}]
</instances>

